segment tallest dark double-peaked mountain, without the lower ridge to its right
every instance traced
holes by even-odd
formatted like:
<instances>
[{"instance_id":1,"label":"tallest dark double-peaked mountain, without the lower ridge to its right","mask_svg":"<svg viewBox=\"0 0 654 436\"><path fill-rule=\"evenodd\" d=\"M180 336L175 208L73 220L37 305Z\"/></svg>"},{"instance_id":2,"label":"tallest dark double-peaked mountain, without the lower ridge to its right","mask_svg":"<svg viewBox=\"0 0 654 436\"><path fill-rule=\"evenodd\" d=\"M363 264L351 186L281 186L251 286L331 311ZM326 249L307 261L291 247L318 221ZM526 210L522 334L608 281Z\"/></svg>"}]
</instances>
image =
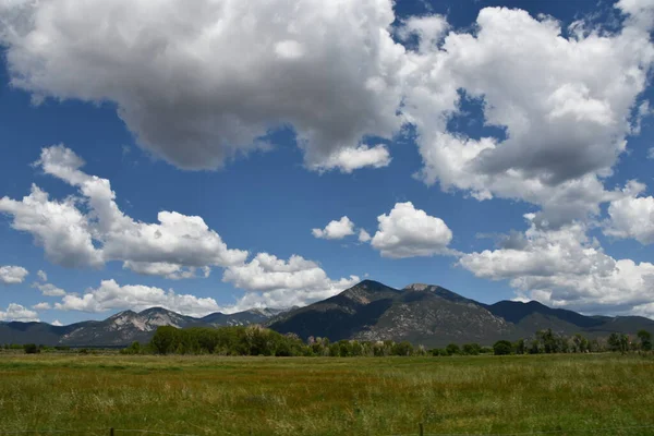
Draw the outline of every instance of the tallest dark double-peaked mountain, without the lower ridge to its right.
<instances>
[{"instance_id":1,"label":"tallest dark double-peaked mountain, without the lower ridge to its right","mask_svg":"<svg viewBox=\"0 0 654 436\"><path fill-rule=\"evenodd\" d=\"M481 304L445 288L411 284L400 291L372 280L274 318L270 328L303 339L392 339L427 347L489 342L514 330Z\"/></svg>"}]
</instances>

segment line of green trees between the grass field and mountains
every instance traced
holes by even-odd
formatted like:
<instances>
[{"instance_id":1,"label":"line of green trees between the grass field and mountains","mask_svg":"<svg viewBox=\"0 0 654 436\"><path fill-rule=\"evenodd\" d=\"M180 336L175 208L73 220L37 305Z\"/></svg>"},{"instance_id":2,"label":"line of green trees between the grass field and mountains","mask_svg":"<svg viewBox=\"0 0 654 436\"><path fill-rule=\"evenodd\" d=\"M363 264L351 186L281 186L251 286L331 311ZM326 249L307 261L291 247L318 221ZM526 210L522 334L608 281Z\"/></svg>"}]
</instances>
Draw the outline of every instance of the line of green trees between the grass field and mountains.
<instances>
[{"instance_id":1,"label":"line of green trees between the grass field and mountains","mask_svg":"<svg viewBox=\"0 0 654 436\"><path fill-rule=\"evenodd\" d=\"M411 355L477 355L477 354L552 354L586 352L651 351L652 335L641 330L635 338L611 334L607 339L588 339L581 334L572 337L558 335L552 329L541 330L531 339L499 340L493 347L479 343L426 349L408 341L358 341L310 337L306 342L298 335L281 335L261 326L247 327L193 327L178 329L159 327L148 344L134 342L122 350L124 354L219 354L267 356L411 356Z\"/></svg>"}]
</instances>

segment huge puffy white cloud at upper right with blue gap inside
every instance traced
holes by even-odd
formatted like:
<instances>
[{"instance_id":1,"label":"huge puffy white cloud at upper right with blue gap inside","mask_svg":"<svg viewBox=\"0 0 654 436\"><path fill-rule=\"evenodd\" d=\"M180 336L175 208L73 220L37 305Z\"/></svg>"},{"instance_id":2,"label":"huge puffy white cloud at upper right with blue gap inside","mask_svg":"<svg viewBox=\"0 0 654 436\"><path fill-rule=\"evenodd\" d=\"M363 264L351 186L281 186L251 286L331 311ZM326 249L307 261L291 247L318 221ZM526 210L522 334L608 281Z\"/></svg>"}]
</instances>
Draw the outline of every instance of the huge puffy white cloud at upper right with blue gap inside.
<instances>
[{"instance_id":1,"label":"huge puffy white cloud at upper right with blue gap inside","mask_svg":"<svg viewBox=\"0 0 654 436\"><path fill-rule=\"evenodd\" d=\"M420 177L479 199L542 206L538 225L552 228L597 215L611 199L602 178L626 150L632 108L647 84L649 31L631 20L615 34L577 22L579 32L565 38L558 22L506 8L483 9L476 25L474 34L450 32L407 55L403 114L417 130ZM438 20L413 32L427 35L423 27L443 34ZM482 102L485 125L506 137L447 130L461 111L459 89Z\"/></svg>"}]
</instances>

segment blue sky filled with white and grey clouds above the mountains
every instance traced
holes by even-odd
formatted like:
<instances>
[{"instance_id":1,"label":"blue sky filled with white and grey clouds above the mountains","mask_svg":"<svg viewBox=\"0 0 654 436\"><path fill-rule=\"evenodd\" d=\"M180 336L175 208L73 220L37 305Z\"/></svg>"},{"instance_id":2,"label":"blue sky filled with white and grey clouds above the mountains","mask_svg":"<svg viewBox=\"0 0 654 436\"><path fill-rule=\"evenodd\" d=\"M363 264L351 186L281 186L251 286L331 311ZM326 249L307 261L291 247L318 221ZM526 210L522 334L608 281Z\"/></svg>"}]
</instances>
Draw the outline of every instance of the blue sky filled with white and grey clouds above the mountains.
<instances>
[{"instance_id":1,"label":"blue sky filled with white and grey clouds above the mountains","mask_svg":"<svg viewBox=\"0 0 654 436\"><path fill-rule=\"evenodd\" d=\"M654 0L1 0L0 322L361 280L654 317Z\"/></svg>"}]
</instances>

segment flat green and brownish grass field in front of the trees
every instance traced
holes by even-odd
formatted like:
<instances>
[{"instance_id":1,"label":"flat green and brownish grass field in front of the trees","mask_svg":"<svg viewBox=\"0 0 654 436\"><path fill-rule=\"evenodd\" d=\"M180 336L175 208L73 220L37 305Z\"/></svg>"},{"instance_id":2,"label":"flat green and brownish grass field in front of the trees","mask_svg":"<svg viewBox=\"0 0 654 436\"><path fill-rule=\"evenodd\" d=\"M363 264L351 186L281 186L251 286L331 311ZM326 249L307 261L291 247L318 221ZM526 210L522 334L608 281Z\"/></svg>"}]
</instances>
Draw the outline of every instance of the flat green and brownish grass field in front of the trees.
<instances>
[{"instance_id":1,"label":"flat green and brownish grass field in front of the trees","mask_svg":"<svg viewBox=\"0 0 654 436\"><path fill-rule=\"evenodd\" d=\"M620 355L1 355L0 434L651 435L654 360ZM610 428L579 431L583 428ZM120 434L120 433L117 433Z\"/></svg>"}]
</instances>

